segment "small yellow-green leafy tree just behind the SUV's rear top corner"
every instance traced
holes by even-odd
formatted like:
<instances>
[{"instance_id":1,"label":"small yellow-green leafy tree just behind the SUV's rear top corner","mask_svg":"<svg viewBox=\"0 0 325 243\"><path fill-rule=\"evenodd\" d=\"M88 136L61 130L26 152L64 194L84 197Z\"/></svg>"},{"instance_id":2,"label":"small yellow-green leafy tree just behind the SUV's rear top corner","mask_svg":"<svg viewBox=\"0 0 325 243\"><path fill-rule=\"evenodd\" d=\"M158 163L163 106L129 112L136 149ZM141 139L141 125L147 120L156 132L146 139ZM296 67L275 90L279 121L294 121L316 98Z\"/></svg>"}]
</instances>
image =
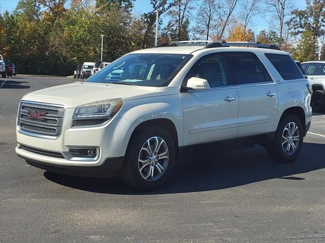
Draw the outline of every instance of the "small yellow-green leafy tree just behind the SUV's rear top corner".
<instances>
[{"instance_id":1,"label":"small yellow-green leafy tree just behind the SUV's rear top corner","mask_svg":"<svg viewBox=\"0 0 325 243\"><path fill-rule=\"evenodd\" d=\"M294 52L294 59L300 62L316 60L317 40L311 30L306 30L302 33L301 39Z\"/></svg>"}]
</instances>

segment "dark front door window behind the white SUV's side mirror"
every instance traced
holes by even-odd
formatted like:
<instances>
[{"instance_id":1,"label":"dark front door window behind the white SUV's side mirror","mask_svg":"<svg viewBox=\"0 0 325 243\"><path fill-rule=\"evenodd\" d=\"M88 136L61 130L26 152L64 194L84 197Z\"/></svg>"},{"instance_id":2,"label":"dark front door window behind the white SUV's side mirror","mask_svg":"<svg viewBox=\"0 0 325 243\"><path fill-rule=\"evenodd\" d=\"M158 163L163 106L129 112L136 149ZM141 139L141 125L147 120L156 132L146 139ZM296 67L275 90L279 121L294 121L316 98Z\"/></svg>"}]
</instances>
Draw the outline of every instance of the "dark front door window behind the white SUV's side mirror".
<instances>
[{"instance_id":1,"label":"dark front door window behind the white SUV's side mirror","mask_svg":"<svg viewBox=\"0 0 325 243\"><path fill-rule=\"evenodd\" d=\"M221 54L212 54L200 59L187 74L187 78L207 79L211 88L228 85L228 74Z\"/></svg>"}]
</instances>

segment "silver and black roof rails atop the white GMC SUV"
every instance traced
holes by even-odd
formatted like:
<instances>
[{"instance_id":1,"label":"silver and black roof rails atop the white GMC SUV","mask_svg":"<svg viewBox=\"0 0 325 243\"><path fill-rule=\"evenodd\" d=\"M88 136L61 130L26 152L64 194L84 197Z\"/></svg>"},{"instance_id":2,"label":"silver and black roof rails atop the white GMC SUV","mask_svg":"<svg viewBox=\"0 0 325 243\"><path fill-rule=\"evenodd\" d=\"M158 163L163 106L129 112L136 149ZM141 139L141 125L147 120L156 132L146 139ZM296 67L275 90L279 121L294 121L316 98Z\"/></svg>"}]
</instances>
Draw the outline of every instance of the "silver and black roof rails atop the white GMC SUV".
<instances>
[{"instance_id":1,"label":"silver and black roof rails atop the white GMC SUV","mask_svg":"<svg viewBox=\"0 0 325 243\"><path fill-rule=\"evenodd\" d=\"M256 47L272 50L280 50L275 45L261 44L258 42L225 42L225 41L181 41L160 44L155 47L182 47L182 46L204 46L204 48L217 48L217 47Z\"/></svg>"}]
</instances>

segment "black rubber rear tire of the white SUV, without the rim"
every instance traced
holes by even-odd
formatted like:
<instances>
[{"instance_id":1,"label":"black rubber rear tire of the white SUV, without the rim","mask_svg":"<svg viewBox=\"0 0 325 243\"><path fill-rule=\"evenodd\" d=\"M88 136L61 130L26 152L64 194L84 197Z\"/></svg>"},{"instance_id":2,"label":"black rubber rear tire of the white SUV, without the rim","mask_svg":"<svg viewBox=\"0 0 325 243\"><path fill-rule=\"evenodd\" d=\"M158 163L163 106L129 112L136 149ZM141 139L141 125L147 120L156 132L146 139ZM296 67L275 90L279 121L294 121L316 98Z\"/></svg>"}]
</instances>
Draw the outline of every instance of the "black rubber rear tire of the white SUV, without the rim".
<instances>
[{"instance_id":1,"label":"black rubber rear tire of the white SUV, without the rim","mask_svg":"<svg viewBox=\"0 0 325 243\"><path fill-rule=\"evenodd\" d=\"M289 123L295 123L298 126L298 130L299 130L298 147L295 150L295 152L290 155L286 154L282 147L282 134L285 127ZM268 154L276 163L290 163L298 157L303 145L303 139L304 139L304 130L303 130L301 120L294 114L288 114L281 118L278 128L276 130L275 137L267 148Z\"/></svg>"}]
</instances>

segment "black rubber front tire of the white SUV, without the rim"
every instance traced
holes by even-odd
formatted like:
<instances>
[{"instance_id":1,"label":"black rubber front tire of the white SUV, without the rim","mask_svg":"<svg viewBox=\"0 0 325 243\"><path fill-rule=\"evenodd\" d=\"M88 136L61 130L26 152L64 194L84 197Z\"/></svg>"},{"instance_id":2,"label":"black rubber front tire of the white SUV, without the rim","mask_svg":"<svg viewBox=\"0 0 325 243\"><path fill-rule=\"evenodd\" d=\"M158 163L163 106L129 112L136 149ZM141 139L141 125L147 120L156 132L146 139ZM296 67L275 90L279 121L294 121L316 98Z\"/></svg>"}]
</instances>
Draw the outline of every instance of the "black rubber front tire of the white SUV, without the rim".
<instances>
[{"instance_id":1,"label":"black rubber front tire of the white SUV, without the rim","mask_svg":"<svg viewBox=\"0 0 325 243\"><path fill-rule=\"evenodd\" d=\"M169 161L165 173L160 178L155 181L147 181L140 174L138 158L142 146L152 137L164 139L169 150ZM135 131L131 141L129 141L120 177L124 184L128 187L132 187L140 191L150 191L159 188L164 184L164 182L166 182L166 180L170 178L174 170L174 166L175 143L173 138L165 129L159 126L150 126Z\"/></svg>"}]
</instances>

